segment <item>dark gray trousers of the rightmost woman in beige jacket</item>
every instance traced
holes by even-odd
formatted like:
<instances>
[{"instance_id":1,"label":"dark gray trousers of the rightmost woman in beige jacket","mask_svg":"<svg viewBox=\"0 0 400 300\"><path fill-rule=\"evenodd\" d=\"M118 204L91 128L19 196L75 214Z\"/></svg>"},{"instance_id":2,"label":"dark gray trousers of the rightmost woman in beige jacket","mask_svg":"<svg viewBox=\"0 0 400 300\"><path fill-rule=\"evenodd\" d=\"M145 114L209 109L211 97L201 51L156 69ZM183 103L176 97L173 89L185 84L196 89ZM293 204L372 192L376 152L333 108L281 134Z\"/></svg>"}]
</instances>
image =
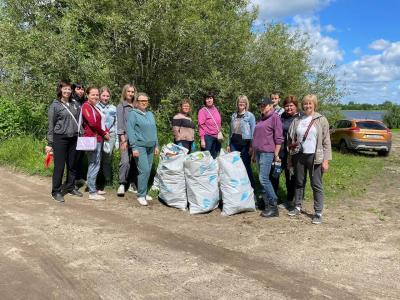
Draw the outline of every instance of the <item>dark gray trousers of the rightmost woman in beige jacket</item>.
<instances>
[{"instance_id":1,"label":"dark gray trousers of the rightmost woman in beige jacket","mask_svg":"<svg viewBox=\"0 0 400 300\"><path fill-rule=\"evenodd\" d=\"M307 172L310 176L311 188L314 197L314 210L321 214L324 207L324 187L322 185L321 164L314 165L314 154L299 153L293 156L294 175L296 176L296 189L294 204L301 207L304 200L304 188L307 182Z\"/></svg>"}]
</instances>

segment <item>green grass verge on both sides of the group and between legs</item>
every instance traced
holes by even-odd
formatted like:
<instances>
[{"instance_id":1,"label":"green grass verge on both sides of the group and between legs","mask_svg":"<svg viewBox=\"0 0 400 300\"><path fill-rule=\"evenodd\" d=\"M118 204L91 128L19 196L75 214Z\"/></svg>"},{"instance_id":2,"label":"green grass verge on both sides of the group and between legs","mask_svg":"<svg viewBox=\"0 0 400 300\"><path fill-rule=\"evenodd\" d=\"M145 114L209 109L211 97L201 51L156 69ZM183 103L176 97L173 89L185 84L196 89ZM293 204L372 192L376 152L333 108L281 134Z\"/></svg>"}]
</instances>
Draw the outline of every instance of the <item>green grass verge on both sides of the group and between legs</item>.
<instances>
[{"instance_id":1,"label":"green grass verge on both sides of the group and between legs","mask_svg":"<svg viewBox=\"0 0 400 300\"><path fill-rule=\"evenodd\" d=\"M51 176L52 167L44 168L43 141L31 137L10 138L0 143L0 164L10 166L18 171L30 175ZM330 170L324 174L324 188L326 203L345 201L346 198L359 197L365 192L368 183L380 176L385 161L391 157L382 158L364 154L340 154L333 152L333 160L330 162ZM117 185L119 153L116 153L113 161L114 184ZM158 159L153 165L155 173ZM371 172L371 170L374 170ZM257 173L255 173L257 177ZM281 176L279 197L285 197L285 176ZM308 179L309 181L309 179ZM306 200L312 199L312 191L307 183Z\"/></svg>"}]
</instances>

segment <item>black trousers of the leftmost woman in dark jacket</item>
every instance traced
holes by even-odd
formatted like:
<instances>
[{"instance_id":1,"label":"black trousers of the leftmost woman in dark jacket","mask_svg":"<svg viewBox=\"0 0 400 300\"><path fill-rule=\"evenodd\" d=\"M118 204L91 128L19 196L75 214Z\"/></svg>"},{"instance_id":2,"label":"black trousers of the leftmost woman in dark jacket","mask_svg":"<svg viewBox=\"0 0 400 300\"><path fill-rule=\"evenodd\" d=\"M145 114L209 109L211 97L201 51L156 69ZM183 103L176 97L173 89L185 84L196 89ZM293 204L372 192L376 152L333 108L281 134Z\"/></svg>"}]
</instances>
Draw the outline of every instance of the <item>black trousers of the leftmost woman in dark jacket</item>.
<instances>
[{"instance_id":1,"label":"black trousers of the leftmost woman in dark jacket","mask_svg":"<svg viewBox=\"0 0 400 300\"><path fill-rule=\"evenodd\" d=\"M77 137L67 137L66 135L54 134L53 137L53 156L54 172L53 186L51 193L61 193L62 178L65 165L67 165L67 180L65 183L66 191L75 188L75 176L77 165L76 141Z\"/></svg>"}]
</instances>

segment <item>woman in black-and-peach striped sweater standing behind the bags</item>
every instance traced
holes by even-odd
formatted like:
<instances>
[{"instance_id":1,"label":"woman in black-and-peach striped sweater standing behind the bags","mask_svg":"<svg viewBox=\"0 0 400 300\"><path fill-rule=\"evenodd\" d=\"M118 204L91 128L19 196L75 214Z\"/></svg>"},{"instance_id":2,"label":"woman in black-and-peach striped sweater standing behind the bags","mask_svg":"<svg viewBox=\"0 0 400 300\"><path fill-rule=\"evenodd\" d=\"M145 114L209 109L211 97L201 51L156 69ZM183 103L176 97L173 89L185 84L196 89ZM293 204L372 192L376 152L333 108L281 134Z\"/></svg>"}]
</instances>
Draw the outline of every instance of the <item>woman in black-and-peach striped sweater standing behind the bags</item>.
<instances>
[{"instance_id":1,"label":"woman in black-and-peach striped sweater standing behind the bags","mask_svg":"<svg viewBox=\"0 0 400 300\"><path fill-rule=\"evenodd\" d=\"M190 101L189 99L183 99L180 105L180 112L177 113L172 119L172 132L174 134L174 143L188 149L188 153L192 151L194 146L193 141L195 128L195 125L189 114Z\"/></svg>"}]
</instances>

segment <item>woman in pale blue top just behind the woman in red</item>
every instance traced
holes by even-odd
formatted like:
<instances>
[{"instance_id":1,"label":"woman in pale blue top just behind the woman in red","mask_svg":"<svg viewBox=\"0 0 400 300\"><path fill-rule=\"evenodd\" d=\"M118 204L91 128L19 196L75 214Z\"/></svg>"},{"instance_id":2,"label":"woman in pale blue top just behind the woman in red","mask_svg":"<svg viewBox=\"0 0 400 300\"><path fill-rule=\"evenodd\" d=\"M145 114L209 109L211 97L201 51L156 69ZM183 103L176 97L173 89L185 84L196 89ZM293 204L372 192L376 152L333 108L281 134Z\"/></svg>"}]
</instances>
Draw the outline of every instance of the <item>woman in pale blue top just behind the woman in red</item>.
<instances>
[{"instance_id":1,"label":"woman in pale blue top just behind the woman in red","mask_svg":"<svg viewBox=\"0 0 400 300\"><path fill-rule=\"evenodd\" d=\"M100 102L96 107L103 113L106 131L110 135L110 140L103 143L103 153L101 156L101 168L104 176L104 186L112 185L112 155L117 139L117 108L110 103L111 92L107 87L100 89ZM103 189L100 189L103 192ZM100 192L99 191L99 192Z\"/></svg>"}]
</instances>

